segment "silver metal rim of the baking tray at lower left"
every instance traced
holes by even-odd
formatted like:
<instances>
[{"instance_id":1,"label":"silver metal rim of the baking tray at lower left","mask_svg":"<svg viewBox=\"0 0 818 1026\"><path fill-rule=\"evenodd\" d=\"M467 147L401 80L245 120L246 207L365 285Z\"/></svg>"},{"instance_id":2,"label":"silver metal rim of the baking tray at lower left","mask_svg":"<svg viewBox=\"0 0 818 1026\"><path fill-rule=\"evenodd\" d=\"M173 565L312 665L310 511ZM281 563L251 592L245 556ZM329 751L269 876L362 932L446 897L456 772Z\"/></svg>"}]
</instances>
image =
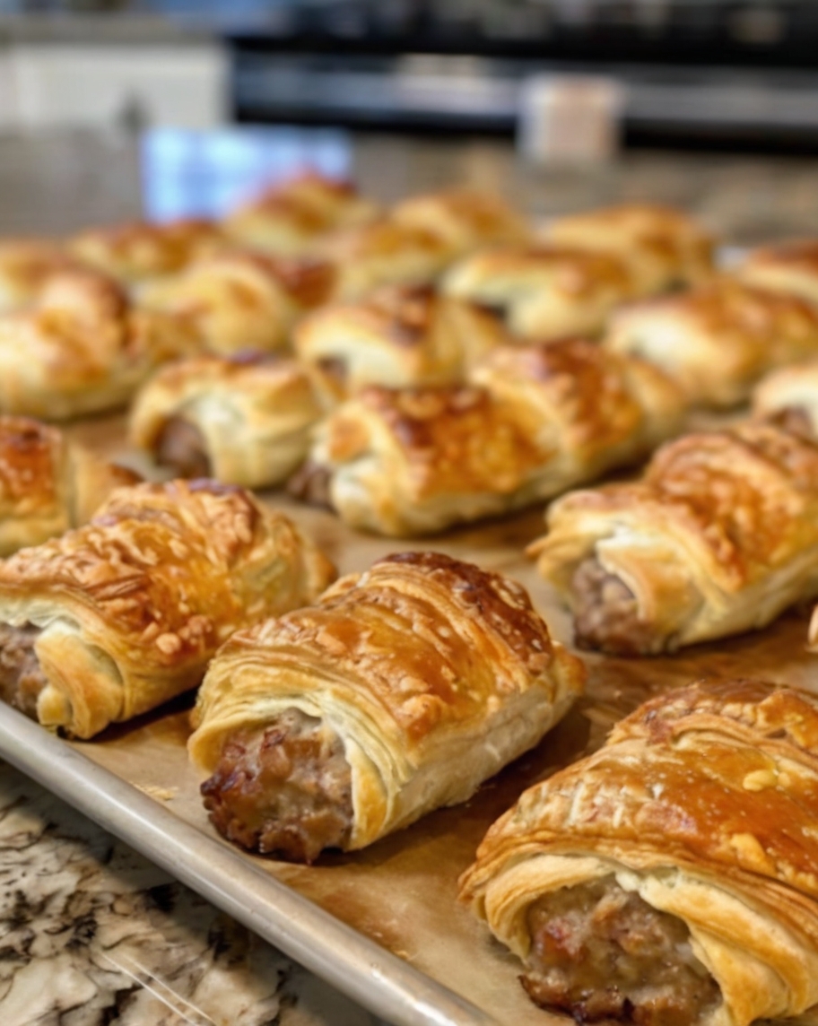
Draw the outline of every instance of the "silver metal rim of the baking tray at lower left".
<instances>
[{"instance_id":1,"label":"silver metal rim of the baking tray at lower left","mask_svg":"<svg viewBox=\"0 0 818 1026\"><path fill-rule=\"evenodd\" d=\"M501 1026L4 703L0 758L394 1026Z\"/></svg>"}]
</instances>

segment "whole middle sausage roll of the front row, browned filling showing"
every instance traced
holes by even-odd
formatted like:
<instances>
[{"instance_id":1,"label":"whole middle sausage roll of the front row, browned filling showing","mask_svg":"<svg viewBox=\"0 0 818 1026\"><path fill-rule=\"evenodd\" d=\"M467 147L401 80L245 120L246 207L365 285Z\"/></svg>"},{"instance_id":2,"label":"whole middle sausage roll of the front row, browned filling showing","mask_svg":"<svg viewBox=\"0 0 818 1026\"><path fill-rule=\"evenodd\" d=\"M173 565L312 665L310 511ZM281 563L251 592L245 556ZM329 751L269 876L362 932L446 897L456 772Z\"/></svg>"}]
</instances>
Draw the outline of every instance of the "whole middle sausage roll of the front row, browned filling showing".
<instances>
[{"instance_id":1,"label":"whole middle sausage roll of the front row, browned filling showing","mask_svg":"<svg viewBox=\"0 0 818 1026\"><path fill-rule=\"evenodd\" d=\"M410 552L234 635L189 751L225 836L311 862L465 801L583 683L518 584Z\"/></svg>"}]
</instances>

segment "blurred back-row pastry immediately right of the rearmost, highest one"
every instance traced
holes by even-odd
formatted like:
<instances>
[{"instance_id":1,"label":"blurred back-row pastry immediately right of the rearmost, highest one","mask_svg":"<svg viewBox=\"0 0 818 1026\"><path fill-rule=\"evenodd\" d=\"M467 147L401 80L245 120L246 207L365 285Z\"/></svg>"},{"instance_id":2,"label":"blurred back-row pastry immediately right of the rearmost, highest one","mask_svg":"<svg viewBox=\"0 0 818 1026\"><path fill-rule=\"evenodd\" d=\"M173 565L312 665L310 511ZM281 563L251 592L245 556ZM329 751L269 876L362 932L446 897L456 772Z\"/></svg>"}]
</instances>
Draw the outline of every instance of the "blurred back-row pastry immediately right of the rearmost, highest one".
<instances>
[{"instance_id":1,"label":"blurred back-row pastry immediately right of the rearmost, highest one","mask_svg":"<svg viewBox=\"0 0 818 1026\"><path fill-rule=\"evenodd\" d=\"M527 242L531 229L499 196L476 189L447 189L411 196L392 209L402 225L442 236L458 255L481 246Z\"/></svg>"}]
</instances>

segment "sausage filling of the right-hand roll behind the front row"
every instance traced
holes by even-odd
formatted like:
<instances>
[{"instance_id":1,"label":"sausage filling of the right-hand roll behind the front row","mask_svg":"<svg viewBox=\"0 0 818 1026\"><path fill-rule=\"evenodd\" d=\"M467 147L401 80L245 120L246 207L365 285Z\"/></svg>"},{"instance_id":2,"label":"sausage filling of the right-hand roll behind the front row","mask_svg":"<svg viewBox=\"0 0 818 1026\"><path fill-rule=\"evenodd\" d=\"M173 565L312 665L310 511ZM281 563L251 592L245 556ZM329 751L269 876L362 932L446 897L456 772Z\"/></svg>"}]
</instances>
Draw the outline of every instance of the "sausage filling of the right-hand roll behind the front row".
<instances>
[{"instance_id":1,"label":"sausage filling of the right-hand roll behind the front row","mask_svg":"<svg viewBox=\"0 0 818 1026\"><path fill-rule=\"evenodd\" d=\"M575 596L574 632L583 648L619 656L652 650L652 625L639 620L633 592L621 578L591 557L579 564L571 582Z\"/></svg>"}]
</instances>

